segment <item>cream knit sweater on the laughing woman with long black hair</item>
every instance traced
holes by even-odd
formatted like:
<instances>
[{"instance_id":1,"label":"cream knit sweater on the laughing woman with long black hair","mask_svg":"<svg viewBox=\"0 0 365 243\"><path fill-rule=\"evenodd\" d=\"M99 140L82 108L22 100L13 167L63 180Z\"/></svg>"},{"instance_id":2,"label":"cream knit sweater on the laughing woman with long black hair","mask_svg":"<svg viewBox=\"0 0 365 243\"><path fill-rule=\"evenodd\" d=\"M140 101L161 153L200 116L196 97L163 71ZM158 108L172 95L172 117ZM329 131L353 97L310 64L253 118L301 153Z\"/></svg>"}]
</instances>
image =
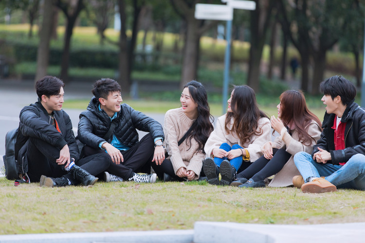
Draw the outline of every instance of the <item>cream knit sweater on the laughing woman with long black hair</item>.
<instances>
[{"instance_id":1,"label":"cream knit sweater on the laughing woman with long black hair","mask_svg":"<svg viewBox=\"0 0 365 243\"><path fill-rule=\"evenodd\" d=\"M204 151L198 151L199 144L195 139L191 139L190 146L190 138L186 138L178 146L178 141L183 138L194 121L185 115L181 107L168 110L164 118L164 142L175 174L184 167L186 171L193 171L196 174L194 179L198 179L205 157Z\"/></svg>"}]
</instances>

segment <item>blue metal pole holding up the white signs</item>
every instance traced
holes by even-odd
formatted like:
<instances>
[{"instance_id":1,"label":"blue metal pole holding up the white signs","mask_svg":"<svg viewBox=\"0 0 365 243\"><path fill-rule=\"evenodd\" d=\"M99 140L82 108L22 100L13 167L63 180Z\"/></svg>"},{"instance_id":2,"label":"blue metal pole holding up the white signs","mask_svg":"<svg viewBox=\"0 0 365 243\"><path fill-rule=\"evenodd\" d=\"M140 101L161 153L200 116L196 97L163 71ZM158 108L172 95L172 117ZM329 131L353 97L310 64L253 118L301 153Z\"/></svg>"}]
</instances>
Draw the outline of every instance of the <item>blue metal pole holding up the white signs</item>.
<instances>
[{"instance_id":1,"label":"blue metal pole holding up the white signs","mask_svg":"<svg viewBox=\"0 0 365 243\"><path fill-rule=\"evenodd\" d=\"M231 31L232 31L232 20L228 20L226 24L226 52L224 55L224 82L223 82L223 100L222 100L222 107L223 111L222 114L227 112L227 93L228 93L228 84L229 84L229 66L231 62Z\"/></svg>"}]
</instances>

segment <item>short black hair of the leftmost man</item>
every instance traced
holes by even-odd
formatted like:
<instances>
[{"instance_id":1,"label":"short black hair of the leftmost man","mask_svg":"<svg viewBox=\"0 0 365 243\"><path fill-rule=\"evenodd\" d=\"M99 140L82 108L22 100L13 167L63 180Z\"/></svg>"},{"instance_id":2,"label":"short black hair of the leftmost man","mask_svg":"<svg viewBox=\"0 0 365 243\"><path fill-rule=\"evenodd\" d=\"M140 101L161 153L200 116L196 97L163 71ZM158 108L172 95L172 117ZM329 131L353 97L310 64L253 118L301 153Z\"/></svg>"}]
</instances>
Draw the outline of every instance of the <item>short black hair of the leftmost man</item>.
<instances>
[{"instance_id":1,"label":"short black hair of the leftmost man","mask_svg":"<svg viewBox=\"0 0 365 243\"><path fill-rule=\"evenodd\" d=\"M42 99L42 95L47 96L48 98L51 95L59 94L59 90L61 87L64 87L65 84L59 78L54 76L45 76L36 82L36 91L39 99Z\"/></svg>"}]
</instances>

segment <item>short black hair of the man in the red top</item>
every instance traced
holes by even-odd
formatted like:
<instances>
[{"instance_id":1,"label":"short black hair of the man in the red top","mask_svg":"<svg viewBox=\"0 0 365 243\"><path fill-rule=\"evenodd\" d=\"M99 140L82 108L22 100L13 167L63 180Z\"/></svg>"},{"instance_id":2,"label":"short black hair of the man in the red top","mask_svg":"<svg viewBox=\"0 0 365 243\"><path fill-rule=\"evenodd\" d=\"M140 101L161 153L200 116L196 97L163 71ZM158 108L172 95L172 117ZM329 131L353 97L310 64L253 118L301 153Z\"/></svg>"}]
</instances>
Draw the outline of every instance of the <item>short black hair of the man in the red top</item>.
<instances>
[{"instance_id":1,"label":"short black hair of the man in the red top","mask_svg":"<svg viewBox=\"0 0 365 243\"><path fill-rule=\"evenodd\" d=\"M320 84L321 92L330 95L332 100L340 96L344 105L355 101L356 87L342 76L332 76Z\"/></svg>"}]
</instances>

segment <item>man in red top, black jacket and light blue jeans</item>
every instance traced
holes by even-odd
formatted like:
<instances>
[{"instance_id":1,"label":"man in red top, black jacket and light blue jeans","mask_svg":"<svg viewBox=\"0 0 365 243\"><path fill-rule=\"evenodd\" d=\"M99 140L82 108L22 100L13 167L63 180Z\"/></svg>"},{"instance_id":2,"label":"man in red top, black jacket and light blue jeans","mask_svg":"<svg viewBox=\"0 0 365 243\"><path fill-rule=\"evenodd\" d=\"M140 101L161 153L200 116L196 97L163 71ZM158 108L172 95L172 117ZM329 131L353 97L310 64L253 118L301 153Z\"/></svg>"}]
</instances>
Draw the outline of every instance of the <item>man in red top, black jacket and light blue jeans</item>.
<instances>
[{"instance_id":1,"label":"man in red top, black jacket and light blue jeans","mask_svg":"<svg viewBox=\"0 0 365 243\"><path fill-rule=\"evenodd\" d=\"M320 88L327 105L323 132L311 155L294 156L302 176L295 176L293 184L312 193L365 190L365 110L354 103L356 88L342 76L330 77Z\"/></svg>"}]
</instances>

